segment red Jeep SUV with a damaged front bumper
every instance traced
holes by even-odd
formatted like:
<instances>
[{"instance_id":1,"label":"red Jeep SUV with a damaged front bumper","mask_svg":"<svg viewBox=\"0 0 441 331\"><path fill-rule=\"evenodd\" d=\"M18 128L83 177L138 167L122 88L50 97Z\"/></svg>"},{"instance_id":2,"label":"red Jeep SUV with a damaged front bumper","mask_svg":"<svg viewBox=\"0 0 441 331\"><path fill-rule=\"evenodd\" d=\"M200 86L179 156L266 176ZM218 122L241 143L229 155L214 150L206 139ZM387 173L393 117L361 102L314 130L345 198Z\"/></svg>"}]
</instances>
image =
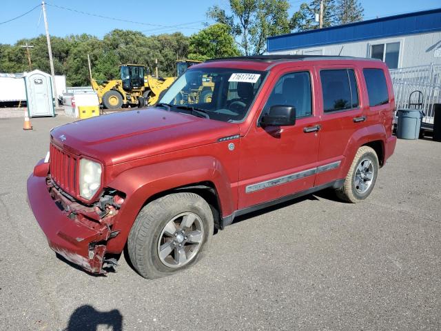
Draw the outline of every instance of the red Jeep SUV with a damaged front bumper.
<instances>
[{"instance_id":1,"label":"red Jeep SUV with a damaged front bumper","mask_svg":"<svg viewBox=\"0 0 441 331\"><path fill-rule=\"evenodd\" d=\"M206 61L154 108L52 129L28 201L68 261L105 273L127 245L139 274L163 277L238 215L324 188L366 199L396 145L394 106L381 61Z\"/></svg>"}]
</instances>

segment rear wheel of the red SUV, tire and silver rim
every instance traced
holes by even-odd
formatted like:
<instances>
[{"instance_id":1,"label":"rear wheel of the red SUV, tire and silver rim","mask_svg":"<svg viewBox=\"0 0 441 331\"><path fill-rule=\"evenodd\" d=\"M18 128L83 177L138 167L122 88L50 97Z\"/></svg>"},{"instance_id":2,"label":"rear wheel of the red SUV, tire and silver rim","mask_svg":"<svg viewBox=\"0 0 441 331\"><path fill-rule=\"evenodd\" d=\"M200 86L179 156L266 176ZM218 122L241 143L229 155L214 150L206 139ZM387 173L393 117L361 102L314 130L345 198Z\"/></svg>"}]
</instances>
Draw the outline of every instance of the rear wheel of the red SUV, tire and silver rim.
<instances>
[{"instance_id":1,"label":"rear wheel of the red SUV, tire and silver rim","mask_svg":"<svg viewBox=\"0 0 441 331\"><path fill-rule=\"evenodd\" d=\"M342 187L336 190L343 201L357 203L371 194L378 177L378 156L368 146L358 148Z\"/></svg>"}]
</instances>

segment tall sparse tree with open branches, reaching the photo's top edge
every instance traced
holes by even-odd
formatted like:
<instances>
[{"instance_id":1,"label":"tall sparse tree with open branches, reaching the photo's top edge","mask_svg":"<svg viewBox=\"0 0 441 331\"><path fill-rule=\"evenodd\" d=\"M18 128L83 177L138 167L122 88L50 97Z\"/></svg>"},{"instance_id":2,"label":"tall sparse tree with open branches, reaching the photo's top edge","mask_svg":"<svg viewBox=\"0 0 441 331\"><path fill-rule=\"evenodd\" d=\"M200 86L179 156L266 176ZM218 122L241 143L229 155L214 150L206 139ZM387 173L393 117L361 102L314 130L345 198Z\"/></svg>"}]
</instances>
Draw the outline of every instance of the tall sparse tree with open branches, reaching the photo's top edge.
<instances>
[{"instance_id":1,"label":"tall sparse tree with open branches, reaching the photo's top edge","mask_svg":"<svg viewBox=\"0 0 441 331\"><path fill-rule=\"evenodd\" d=\"M260 54L267 37L289 32L287 0L229 0L229 7L231 15L214 6L207 16L231 27L245 55Z\"/></svg>"}]
</instances>

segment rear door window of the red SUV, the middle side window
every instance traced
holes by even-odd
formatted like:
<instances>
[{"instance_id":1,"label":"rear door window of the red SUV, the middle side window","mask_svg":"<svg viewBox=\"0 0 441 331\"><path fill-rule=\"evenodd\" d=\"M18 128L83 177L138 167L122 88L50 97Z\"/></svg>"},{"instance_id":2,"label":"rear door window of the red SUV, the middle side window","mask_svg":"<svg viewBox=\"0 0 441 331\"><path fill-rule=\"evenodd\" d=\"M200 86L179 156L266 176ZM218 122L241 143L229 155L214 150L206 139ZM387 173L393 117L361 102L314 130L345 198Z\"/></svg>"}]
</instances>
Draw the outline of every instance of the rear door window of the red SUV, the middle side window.
<instances>
[{"instance_id":1,"label":"rear door window of the red SUV, the middle side window","mask_svg":"<svg viewBox=\"0 0 441 331\"><path fill-rule=\"evenodd\" d=\"M352 69L321 70L320 80L325 112L358 107L356 75Z\"/></svg>"}]
</instances>

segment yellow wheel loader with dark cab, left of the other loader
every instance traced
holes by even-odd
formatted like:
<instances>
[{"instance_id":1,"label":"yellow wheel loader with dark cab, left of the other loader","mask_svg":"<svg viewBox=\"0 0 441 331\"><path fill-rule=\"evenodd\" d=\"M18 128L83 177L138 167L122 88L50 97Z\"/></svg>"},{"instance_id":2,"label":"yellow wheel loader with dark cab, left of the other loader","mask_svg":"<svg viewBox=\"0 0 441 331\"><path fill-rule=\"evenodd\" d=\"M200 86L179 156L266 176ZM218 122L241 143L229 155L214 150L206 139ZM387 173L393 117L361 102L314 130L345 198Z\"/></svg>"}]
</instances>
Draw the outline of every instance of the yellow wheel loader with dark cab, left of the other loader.
<instances>
[{"instance_id":1,"label":"yellow wheel loader with dark cab, left of the other loader","mask_svg":"<svg viewBox=\"0 0 441 331\"><path fill-rule=\"evenodd\" d=\"M99 84L92 79L92 88L98 94L99 102L107 109L122 106L154 105L159 94L172 85L175 77L155 78L147 74L144 66L123 64L121 79L112 79Z\"/></svg>"}]
</instances>

